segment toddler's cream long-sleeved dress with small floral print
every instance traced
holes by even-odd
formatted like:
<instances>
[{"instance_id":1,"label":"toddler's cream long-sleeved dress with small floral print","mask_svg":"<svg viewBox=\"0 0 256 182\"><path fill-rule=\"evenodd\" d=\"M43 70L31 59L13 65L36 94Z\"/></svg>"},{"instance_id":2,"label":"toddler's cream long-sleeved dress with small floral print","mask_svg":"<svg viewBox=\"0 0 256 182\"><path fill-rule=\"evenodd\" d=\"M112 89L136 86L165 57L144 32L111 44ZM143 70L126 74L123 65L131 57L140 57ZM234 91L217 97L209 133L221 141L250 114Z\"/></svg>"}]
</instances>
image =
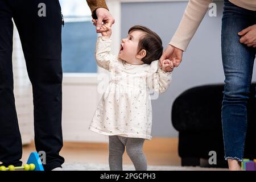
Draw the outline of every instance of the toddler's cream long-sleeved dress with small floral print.
<instances>
[{"instance_id":1,"label":"toddler's cream long-sleeved dress with small floral print","mask_svg":"<svg viewBox=\"0 0 256 182\"><path fill-rule=\"evenodd\" d=\"M110 54L111 39L101 36L96 43L97 64L110 72L108 88L93 115L89 130L104 135L151 139L154 97L167 90L170 72L159 68L159 61L132 65Z\"/></svg>"}]
</instances>

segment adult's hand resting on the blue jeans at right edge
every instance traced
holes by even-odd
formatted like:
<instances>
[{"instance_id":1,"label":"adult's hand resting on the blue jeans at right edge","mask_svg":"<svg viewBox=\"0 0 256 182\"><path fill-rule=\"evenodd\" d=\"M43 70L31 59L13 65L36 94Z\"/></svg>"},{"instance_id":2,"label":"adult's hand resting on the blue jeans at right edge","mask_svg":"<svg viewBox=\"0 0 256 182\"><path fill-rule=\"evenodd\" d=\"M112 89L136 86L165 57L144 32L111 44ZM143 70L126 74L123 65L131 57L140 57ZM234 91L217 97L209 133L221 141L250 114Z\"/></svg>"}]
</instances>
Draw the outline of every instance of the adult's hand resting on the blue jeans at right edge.
<instances>
[{"instance_id":1,"label":"adult's hand resting on the blue jeans at right edge","mask_svg":"<svg viewBox=\"0 0 256 182\"><path fill-rule=\"evenodd\" d=\"M240 43L248 47L256 47L256 24L238 32L238 35L241 36Z\"/></svg>"}]
</instances>

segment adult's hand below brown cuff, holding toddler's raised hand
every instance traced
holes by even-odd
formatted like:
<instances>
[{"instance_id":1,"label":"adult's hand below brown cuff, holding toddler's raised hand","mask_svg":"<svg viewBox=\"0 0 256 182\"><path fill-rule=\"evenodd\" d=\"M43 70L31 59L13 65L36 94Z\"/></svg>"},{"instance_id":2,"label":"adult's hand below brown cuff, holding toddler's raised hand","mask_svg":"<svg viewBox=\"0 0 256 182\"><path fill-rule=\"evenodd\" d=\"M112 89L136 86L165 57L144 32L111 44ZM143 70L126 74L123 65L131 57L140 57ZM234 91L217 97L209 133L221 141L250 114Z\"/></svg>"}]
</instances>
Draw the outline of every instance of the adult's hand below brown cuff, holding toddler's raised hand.
<instances>
[{"instance_id":1,"label":"adult's hand below brown cuff, holding toddler's raised hand","mask_svg":"<svg viewBox=\"0 0 256 182\"><path fill-rule=\"evenodd\" d=\"M97 33L101 33L101 26L102 26L102 22L104 24L108 23L108 26L111 27L112 24L115 23L115 20L113 18L113 16L109 13L109 10L100 7L96 10L96 15L97 15L97 20L93 19L93 24L96 26L96 31ZM95 21L95 22L94 22Z\"/></svg>"}]
</instances>

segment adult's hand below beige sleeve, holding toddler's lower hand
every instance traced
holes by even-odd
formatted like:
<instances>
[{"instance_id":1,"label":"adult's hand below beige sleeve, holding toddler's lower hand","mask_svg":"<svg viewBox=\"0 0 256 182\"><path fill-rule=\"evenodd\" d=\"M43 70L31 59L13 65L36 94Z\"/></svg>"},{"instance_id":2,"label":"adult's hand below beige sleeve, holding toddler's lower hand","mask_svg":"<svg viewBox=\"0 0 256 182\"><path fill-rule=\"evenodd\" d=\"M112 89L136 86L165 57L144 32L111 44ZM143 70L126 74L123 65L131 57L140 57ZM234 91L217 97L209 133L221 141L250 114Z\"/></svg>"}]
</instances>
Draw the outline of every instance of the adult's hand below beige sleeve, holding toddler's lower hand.
<instances>
[{"instance_id":1,"label":"adult's hand below beige sleeve, holding toddler's lower hand","mask_svg":"<svg viewBox=\"0 0 256 182\"><path fill-rule=\"evenodd\" d=\"M162 57L160 57L160 66L163 64L163 60L169 59L174 63L174 67L179 67L179 64L182 60L183 51L177 47L172 45L168 45L168 47L164 50Z\"/></svg>"}]
</instances>

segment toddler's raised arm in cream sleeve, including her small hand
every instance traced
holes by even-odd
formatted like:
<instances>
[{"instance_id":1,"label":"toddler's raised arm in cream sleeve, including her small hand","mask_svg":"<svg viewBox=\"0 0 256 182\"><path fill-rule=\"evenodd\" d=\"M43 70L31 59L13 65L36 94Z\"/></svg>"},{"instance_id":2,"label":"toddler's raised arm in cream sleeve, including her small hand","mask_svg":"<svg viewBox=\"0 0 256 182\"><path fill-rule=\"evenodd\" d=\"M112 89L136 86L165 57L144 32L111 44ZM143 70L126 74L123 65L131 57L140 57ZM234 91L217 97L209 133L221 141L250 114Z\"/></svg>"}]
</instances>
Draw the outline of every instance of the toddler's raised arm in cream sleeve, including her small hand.
<instances>
[{"instance_id":1,"label":"toddler's raised arm in cream sleeve, including her small hand","mask_svg":"<svg viewBox=\"0 0 256 182\"><path fill-rule=\"evenodd\" d=\"M105 30L101 33L102 36L99 36L96 42L96 51L95 58L99 67L104 68L109 71L109 65L115 61L116 56L110 53L111 51L111 42L110 36L112 34L111 28L108 24L102 25L102 30Z\"/></svg>"}]
</instances>

